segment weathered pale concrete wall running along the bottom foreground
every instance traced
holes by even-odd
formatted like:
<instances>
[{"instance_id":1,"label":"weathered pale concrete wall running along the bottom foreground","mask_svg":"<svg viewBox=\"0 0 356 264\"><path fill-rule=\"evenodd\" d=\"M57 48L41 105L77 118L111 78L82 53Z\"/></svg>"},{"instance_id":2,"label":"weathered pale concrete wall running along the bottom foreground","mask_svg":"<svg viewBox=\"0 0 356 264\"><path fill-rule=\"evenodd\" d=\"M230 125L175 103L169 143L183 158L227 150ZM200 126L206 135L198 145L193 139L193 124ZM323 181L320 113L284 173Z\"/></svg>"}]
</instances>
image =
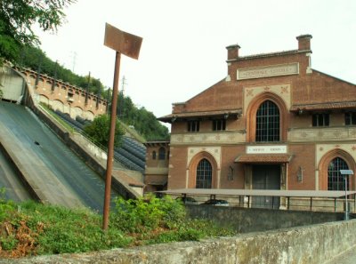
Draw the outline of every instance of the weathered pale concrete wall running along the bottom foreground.
<instances>
[{"instance_id":1,"label":"weathered pale concrete wall running along the bottom foreground","mask_svg":"<svg viewBox=\"0 0 356 264\"><path fill-rule=\"evenodd\" d=\"M355 230L356 220L348 220L200 242L43 256L5 263L322 264L356 245Z\"/></svg>"}]
</instances>

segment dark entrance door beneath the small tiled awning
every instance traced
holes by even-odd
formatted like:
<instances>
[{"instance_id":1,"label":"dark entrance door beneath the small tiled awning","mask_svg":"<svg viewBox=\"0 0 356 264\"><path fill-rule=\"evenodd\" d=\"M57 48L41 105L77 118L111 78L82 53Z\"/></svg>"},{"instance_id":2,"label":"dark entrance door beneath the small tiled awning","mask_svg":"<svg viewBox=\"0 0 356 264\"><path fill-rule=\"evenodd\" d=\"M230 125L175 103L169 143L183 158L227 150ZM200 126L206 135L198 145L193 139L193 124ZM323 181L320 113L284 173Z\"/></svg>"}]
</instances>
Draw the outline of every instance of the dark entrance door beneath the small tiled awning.
<instances>
[{"instance_id":1,"label":"dark entrance door beneath the small tiled awning","mask_svg":"<svg viewBox=\"0 0 356 264\"><path fill-rule=\"evenodd\" d=\"M254 165L252 168L253 189L280 189L280 165ZM279 197L253 196L252 207L279 208Z\"/></svg>"}]
</instances>

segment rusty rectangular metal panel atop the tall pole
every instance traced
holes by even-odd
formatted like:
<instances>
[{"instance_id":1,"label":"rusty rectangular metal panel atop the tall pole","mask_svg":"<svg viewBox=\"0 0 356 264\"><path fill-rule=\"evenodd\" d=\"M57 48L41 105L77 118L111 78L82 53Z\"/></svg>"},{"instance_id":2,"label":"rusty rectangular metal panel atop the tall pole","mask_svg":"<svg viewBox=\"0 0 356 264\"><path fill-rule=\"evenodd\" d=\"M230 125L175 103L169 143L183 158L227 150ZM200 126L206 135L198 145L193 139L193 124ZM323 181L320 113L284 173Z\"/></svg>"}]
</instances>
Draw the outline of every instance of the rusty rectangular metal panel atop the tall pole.
<instances>
[{"instance_id":1,"label":"rusty rectangular metal panel atop the tall pole","mask_svg":"<svg viewBox=\"0 0 356 264\"><path fill-rule=\"evenodd\" d=\"M140 54L142 37L134 36L106 23L104 44L117 52L137 60Z\"/></svg>"}]
</instances>

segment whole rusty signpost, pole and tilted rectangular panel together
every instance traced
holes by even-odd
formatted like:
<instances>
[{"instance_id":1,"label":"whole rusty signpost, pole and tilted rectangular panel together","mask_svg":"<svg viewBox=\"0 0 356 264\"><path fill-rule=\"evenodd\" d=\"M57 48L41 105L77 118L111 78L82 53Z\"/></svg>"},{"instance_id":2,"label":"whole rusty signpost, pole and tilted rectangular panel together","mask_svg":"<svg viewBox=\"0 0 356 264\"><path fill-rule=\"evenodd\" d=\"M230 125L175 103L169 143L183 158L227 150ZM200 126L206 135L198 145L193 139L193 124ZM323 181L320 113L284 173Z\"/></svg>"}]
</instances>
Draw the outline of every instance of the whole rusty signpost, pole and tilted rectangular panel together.
<instances>
[{"instance_id":1,"label":"whole rusty signpost, pole and tilted rectangular panel together","mask_svg":"<svg viewBox=\"0 0 356 264\"><path fill-rule=\"evenodd\" d=\"M116 51L114 84L111 100L111 115L110 115L110 130L109 130L109 146L108 146L108 160L106 165L105 175L105 197L104 209L102 219L102 229L107 230L109 226L109 204L111 196L111 174L112 162L114 157L114 140L115 127L117 123L117 94L118 94L118 77L120 73L121 53L137 60L139 58L140 48L142 44L142 37L134 36L132 34L121 31L108 23L105 25L105 39L104 45Z\"/></svg>"}]
</instances>

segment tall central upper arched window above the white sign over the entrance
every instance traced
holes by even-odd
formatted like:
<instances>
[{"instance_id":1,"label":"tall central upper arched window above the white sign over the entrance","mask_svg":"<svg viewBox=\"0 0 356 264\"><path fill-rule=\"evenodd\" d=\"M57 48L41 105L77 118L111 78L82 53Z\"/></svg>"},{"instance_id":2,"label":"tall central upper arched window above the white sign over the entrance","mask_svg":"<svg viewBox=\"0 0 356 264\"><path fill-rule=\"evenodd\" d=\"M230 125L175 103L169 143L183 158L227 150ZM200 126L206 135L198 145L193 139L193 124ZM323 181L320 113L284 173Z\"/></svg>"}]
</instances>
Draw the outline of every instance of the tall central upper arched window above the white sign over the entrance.
<instances>
[{"instance_id":1,"label":"tall central upper arched window above the white sign over the entrance","mask_svg":"<svg viewBox=\"0 0 356 264\"><path fill-rule=\"evenodd\" d=\"M256 113L256 142L279 141L279 108L265 100Z\"/></svg>"}]
</instances>

